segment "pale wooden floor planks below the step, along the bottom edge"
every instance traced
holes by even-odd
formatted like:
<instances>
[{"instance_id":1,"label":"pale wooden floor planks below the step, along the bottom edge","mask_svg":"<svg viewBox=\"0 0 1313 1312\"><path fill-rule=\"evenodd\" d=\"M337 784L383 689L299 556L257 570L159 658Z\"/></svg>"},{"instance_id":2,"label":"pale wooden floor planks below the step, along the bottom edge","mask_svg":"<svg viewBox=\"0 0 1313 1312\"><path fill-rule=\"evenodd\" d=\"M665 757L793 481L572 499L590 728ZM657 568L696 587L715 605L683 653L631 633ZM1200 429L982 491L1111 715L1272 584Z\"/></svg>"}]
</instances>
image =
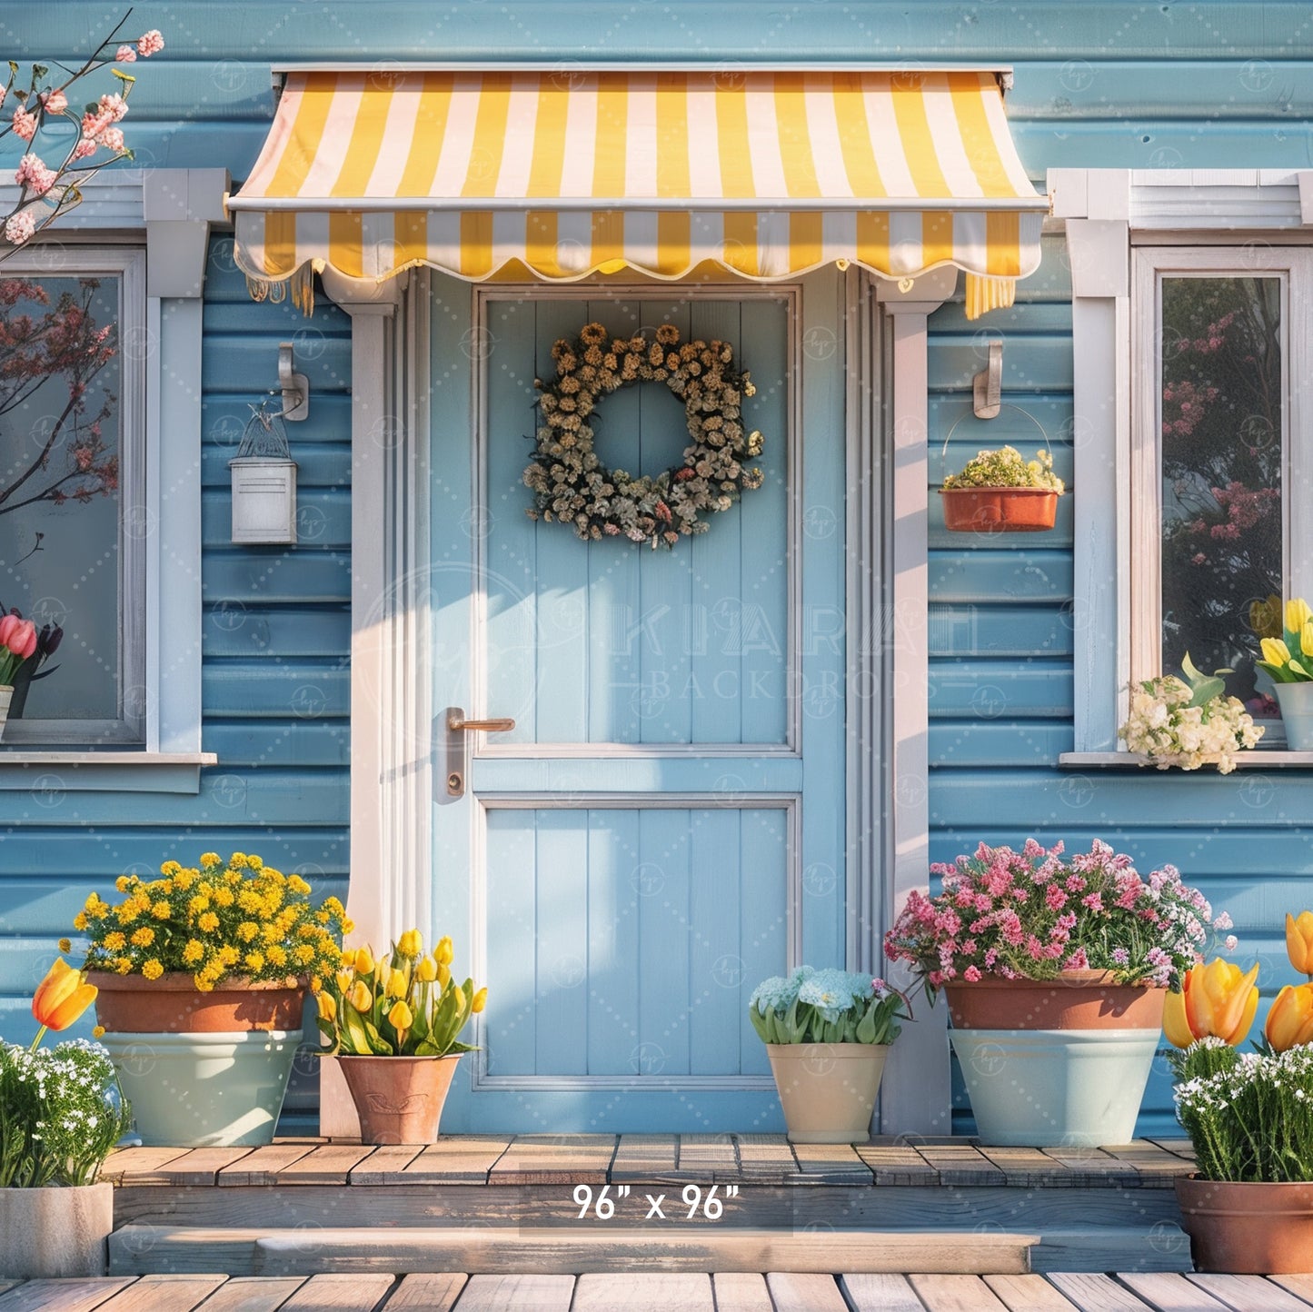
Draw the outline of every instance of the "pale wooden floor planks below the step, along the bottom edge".
<instances>
[{"instance_id":1,"label":"pale wooden floor planks below the step, along the bottom edge","mask_svg":"<svg viewBox=\"0 0 1313 1312\"><path fill-rule=\"evenodd\" d=\"M0 1280L0 1312L1310 1312L1313 1275L143 1275Z\"/></svg>"}]
</instances>

